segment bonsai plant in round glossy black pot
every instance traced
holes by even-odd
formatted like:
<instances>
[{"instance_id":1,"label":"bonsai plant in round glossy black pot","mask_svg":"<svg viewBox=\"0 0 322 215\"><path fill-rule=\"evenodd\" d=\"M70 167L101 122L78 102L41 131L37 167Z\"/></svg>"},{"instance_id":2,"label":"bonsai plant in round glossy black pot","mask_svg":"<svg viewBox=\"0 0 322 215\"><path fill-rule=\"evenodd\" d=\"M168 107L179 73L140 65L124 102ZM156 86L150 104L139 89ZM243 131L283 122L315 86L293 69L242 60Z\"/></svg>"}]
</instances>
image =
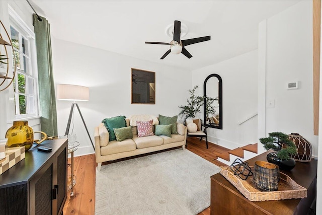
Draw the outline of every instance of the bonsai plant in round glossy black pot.
<instances>
[{"instance_id":1,"label":"bonsai plant in round glossy black pot","mask_svg":"<svg viewBox=\"0 0 322 215\"><path fill-rule=\"evenodd\" d=\"M269 153L267 160L280 167L280 169L291 170L295 166L295 160L291 158L296 154L294 142L288 139L283 132L269 133L269 137L260 138L266 150L273 149L275 153Z\"/></svg>"}]
</instances>

